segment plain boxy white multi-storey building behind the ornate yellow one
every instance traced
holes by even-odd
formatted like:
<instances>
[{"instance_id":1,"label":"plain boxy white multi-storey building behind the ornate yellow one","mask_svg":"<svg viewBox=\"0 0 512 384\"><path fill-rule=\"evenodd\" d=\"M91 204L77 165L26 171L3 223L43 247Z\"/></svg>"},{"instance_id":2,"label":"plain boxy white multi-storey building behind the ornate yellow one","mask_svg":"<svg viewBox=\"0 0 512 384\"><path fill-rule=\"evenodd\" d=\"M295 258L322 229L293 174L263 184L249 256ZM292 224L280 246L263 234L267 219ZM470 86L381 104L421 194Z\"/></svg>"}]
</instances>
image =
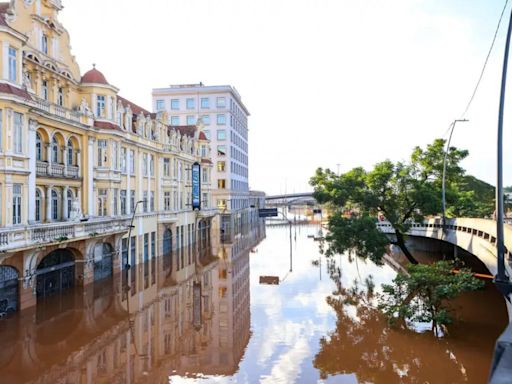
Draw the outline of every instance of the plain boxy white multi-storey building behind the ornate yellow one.
<instances>
[{"instance_id":1,"label":"plain boxy white multi-storey building behind the ornate yellow one","mask_svg":"<svg viewBox=\"0 0 512 384\"><path fill-rule=\"evenodd\" d=\"M247 221L249 202L249 111L230 85L171 85L155 88L153 109L167 111L169 124L202 125L211 141L212 199L223 213L222 229L236 235ZM230 237L231 237L230 236Z\"/></svg>"}]
</instances>

